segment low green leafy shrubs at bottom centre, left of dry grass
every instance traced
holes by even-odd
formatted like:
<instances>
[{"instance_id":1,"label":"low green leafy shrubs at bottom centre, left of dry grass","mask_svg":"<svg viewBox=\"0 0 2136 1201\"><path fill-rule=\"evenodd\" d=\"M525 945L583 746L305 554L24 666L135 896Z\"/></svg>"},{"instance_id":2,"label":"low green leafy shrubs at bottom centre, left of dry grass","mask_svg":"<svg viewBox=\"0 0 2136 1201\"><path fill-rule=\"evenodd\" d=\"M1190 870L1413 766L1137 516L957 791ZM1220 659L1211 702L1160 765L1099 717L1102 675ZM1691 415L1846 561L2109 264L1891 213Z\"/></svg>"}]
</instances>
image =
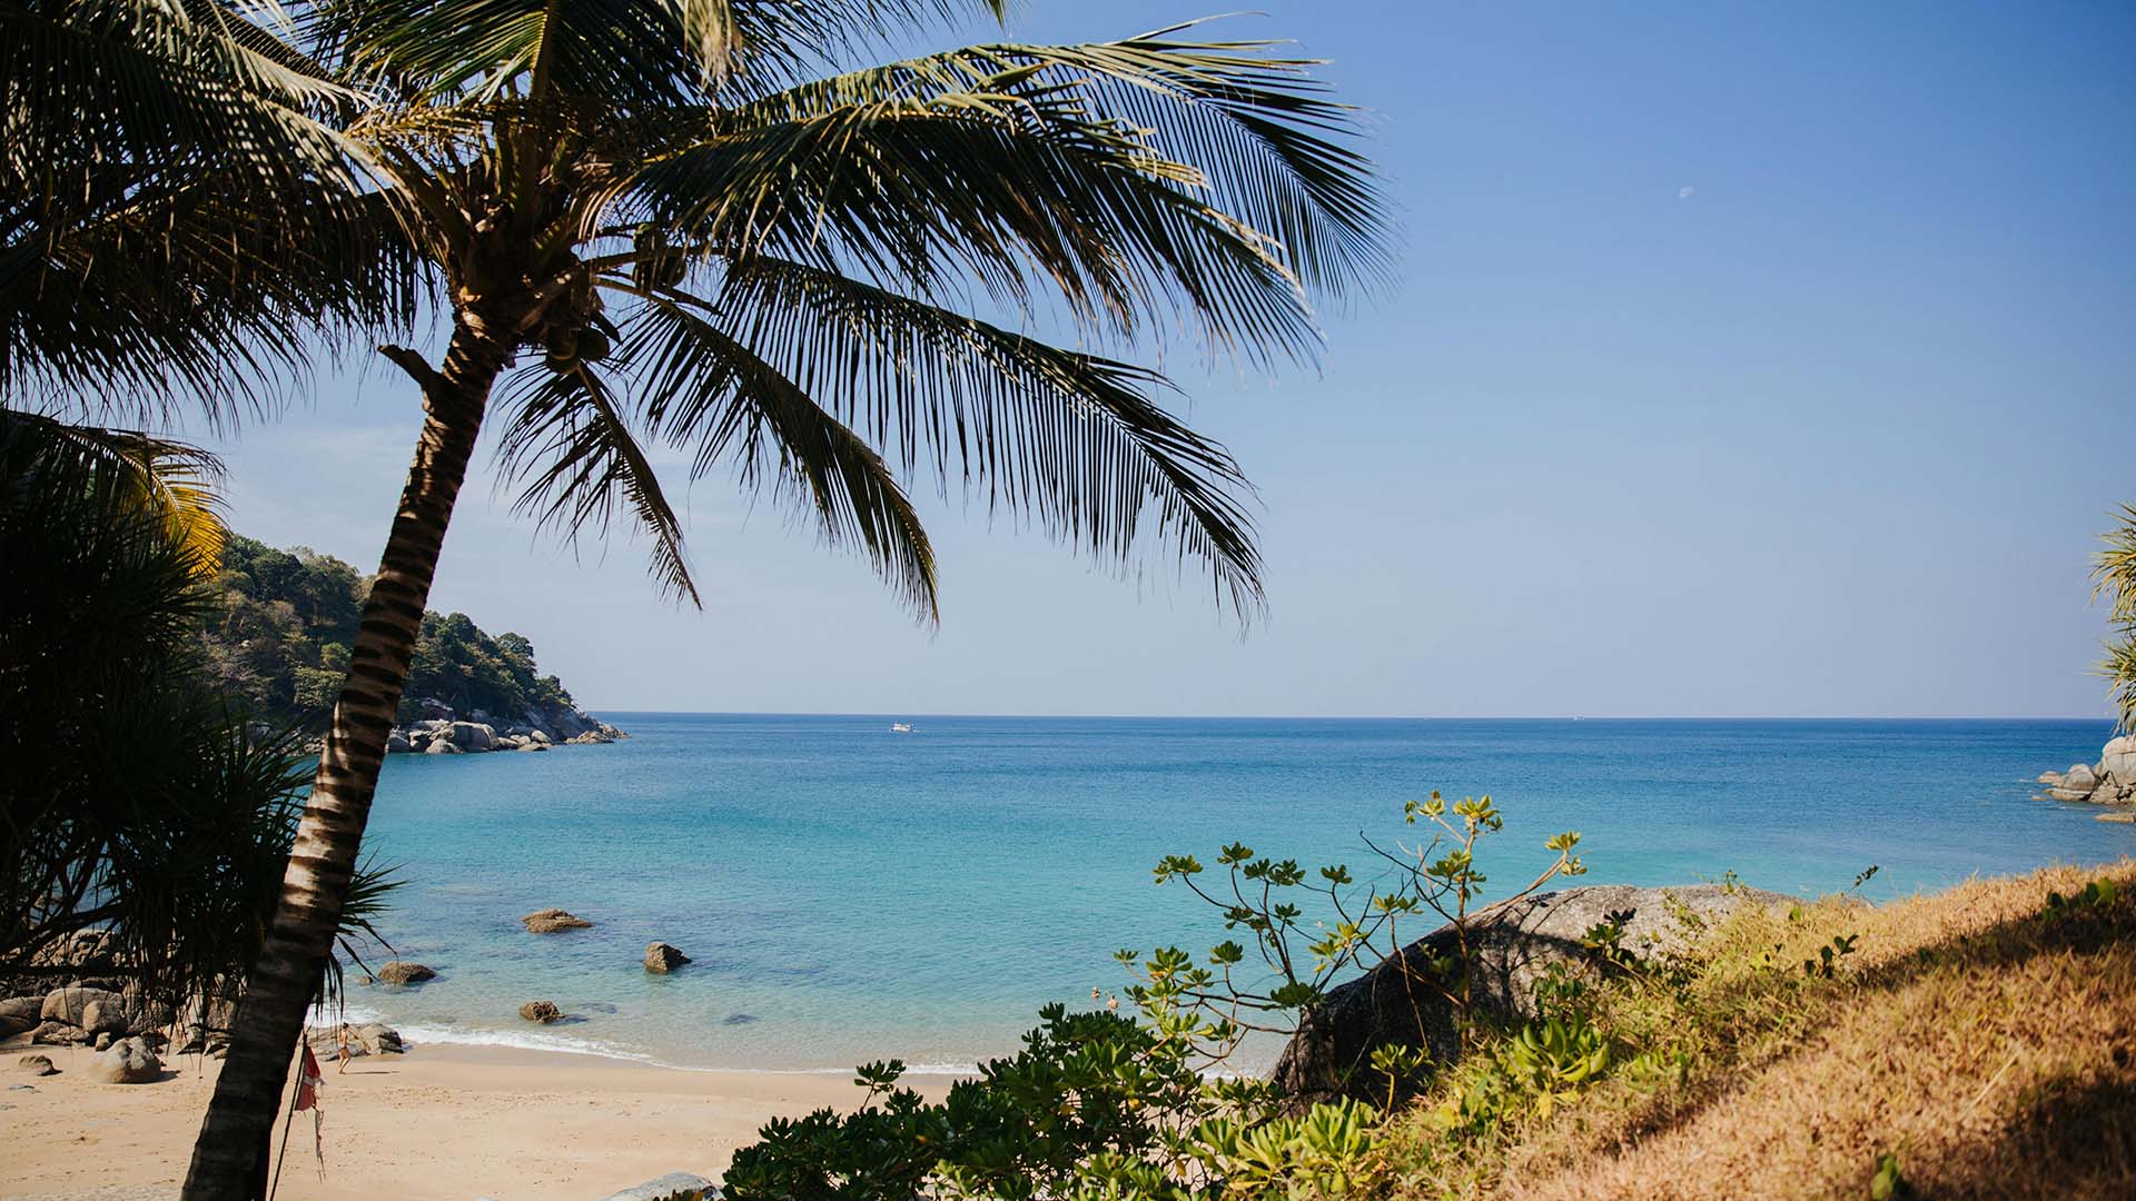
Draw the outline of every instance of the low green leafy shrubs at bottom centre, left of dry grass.
<instances>
[{"instance_id":1,"label":"low green leafy shrubs at bottom centre, left of dry grass","mask_svg":"<svg viewBox=\"0 0 2136 1201\"><path fill-rule=\"evenodd\" d=\"M735 1201L822 1197L1335 1199L1371 1195L1384 1154L1369 1105L1282 1113L1265 1081L1205 1079L1156 1026L1049 1007L1017 1056L929 1103L869 1064L852 1113L773 1120L735 1152Z\"/></svg>"}]
</instances>

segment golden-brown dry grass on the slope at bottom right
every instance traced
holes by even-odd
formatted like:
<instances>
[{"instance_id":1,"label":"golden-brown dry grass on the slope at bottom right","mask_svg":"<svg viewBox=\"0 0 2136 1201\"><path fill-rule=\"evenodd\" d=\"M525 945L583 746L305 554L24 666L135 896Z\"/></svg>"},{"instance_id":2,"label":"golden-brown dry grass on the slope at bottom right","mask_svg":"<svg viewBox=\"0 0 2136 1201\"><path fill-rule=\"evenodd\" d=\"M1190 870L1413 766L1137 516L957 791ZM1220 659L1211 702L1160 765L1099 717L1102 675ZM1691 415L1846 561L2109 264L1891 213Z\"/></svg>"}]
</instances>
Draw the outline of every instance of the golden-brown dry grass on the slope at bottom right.
<instances>
[{"instance_id":1,"label":"golden-brown dry grass on the slope at bottom right","mask_svg":"<svg viewBox=\"0 0 2136 1201\"><path fill-rule=\"evenodd\" d=\"M2115 902L2042 913L2102 876ZM1679 1066L1467 1139L1427 1096L1397 1195L1856 1199L1895 1152L1922 1197L2136 1197L2136 861L1741 915L1593 1021Z\"/></svg>"}]
</instances>

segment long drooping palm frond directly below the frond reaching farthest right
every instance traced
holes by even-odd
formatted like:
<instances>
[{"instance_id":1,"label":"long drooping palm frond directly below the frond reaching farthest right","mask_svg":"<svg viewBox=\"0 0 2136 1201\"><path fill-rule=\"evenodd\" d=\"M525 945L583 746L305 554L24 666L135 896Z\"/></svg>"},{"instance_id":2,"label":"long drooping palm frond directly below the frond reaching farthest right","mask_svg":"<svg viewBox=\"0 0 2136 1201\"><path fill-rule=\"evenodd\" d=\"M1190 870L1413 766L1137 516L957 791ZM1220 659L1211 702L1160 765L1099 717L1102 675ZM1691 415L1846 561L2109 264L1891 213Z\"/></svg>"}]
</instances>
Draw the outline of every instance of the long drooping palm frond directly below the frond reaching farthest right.
<instances>
[{"instance_id":1,"label":"long drooping palm frond directly below the frond reaching farthest right","mask_svg":"<svg viewBox=\"0 0 2136 1201\"><path fill-rule=\"evenodd\" d=\"M767 256L735 267L709 308L908 474L961 479L989 511L1030 517L1100 562L1138 558L1153 513L1156 539L1203 564L1220 598L1258 609L1245 477L1151 400L1171 389L1164 376ZM694 430L703 417L654 380L647 423Z\"/></svg>"}]
</instances>

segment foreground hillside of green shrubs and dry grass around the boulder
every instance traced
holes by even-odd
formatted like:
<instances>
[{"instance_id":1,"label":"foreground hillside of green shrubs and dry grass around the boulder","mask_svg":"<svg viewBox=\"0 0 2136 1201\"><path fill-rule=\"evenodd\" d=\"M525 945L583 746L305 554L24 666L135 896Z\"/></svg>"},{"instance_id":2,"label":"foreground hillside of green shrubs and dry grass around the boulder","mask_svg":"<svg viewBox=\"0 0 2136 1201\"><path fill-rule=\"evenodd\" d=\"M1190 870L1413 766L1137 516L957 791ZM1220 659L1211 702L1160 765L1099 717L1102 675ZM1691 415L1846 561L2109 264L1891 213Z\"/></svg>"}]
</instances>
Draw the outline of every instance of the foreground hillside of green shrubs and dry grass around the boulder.
<instances>
[{"instance_id":1,"label":"foreground hillside of green shrubs and dry grass around the boulder","mask_svg":"<svg viewBox=\"0 0 2136 1201\"><path fill-rule=\"evenodd\" d=\"M1226 848L1228 895L1209 900L1262 949L1262 983L1232 985L1235 942L1205 964L1166 949L1136 968L1134 1017L1049 1007L1021 1054L942 1103L897 1088L901 1064L865 1066L859 1111L767 1124L735 1154L728 1195L2106 1199L2136 1184L2136 908L2123 900L2136 863L1886 908L1833 895L1709 923L1679 904L1683 938L1645 957L1611 915L1540 972L1534 1017L1517 1021L1465 1007L1455 940L1457 962L1431 970L1461 1036L1446 1054L1382 1047L1386 1105L1299 1105L1262 1079L1205 1075L1243 1028L1309 1015L1322 966L1371 962L1354 955L1376 940L1358 917L1393 921L1414 898L1472 919L1474 851L1497 812L1470 799L1408 816L1448 812L1459 821L1438 844L1393 857L1393 883L1365 887L1363 904L1344 868L1307 885L1292 861ZM1553 848L1544 880L1576 865L1570 836ZM1196 891L1200 874L1190 857L1158 868ZM1337 921L1314 923L1312 895Z\"/></svg>"}]
</instances>

